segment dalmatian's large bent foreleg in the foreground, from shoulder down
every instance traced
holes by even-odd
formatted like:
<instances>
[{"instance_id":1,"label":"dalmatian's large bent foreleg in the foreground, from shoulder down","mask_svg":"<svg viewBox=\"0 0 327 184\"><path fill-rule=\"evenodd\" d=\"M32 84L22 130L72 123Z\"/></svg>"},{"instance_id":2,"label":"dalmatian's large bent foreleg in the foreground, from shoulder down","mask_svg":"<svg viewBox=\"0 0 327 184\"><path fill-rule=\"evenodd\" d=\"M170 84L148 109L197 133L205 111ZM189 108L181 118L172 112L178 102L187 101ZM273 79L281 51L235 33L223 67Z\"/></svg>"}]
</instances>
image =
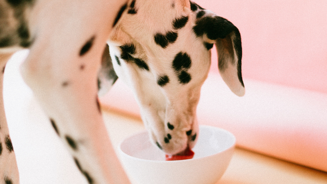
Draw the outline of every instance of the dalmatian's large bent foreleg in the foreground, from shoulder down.
<instances>
[{"instance_id":1,"label":"dalmatian's large bent foreleg in the foreground, from shoulder down","mask_svg":"<svg viewBox=\"0 0 327 184\"><path fill-rule=\"evenodd\" d=\"M125 3L74 0L41 9L35 41L21 65L22 77L88 183L130 183L110 143L97 95L106 40Z\"/></svg>"}]
</instances>

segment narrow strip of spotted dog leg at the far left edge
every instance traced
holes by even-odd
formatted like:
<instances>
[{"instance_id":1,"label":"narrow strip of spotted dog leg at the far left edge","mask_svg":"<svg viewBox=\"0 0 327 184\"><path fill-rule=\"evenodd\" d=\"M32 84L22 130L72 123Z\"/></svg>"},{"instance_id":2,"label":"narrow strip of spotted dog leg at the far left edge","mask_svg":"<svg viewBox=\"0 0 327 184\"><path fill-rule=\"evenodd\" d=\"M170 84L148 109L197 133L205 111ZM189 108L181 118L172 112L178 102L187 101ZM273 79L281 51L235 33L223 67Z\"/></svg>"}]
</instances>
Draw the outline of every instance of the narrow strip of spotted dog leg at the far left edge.
<instances>
[{"instance_id":1,"label":"narrow strip of spotted dog leg at the far left edge","mask_svg":"<svg viewBox=\"0 0 327 184\"><path fill-rule=\"evenodd\" d=\"M0 54L0 183L6 184L19 183L16 156L10 140L3 99L5 66L11 55Z\"/></svg>"}]
</instances>

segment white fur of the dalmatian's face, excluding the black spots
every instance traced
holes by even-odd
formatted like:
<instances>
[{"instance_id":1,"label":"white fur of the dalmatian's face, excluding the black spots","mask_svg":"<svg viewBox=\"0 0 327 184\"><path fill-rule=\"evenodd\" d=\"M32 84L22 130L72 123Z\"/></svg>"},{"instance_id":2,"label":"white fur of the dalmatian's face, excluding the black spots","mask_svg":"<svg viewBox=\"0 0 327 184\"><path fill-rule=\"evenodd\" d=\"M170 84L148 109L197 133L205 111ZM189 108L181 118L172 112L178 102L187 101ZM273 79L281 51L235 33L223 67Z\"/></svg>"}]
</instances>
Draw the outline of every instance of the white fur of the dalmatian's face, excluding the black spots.
<instances>
[{"instance_id":1,"label":"white fur of the dalmatian's face, excluding the black spots","mask_svg":"<svg viewBox=\"0 0 327 184\"><path fill-rule=\"evenodd\" d=\"M189 1L137 0L135 6L137 14L125 13L120 25L110 35L108 44L113 65L119 78L133 90L153 143L159 143L168 154L176 154L188 146L193 148L196 143L185 132L192 130L192 135L198 133L196 107L211 64L211 52L204 48L203 42L214 43L215 40L208 40L205 35L196 37L192 30L196 12L191 11ZM206 14L215 16L208 10ZM176 31L172 22L181 16L188 16L189 21L185 27ZM178 38L163 49L155 43L153 36L157 32L168 31L177 32ZM121 66L115 62L115 56L119 57L122 52L119 46L130 43L136 47L133 57L145 60L150 72L122 59ZM181 84L172 68L172 61L179 52L188 53L192 60L188 71L192 80L188 84ZM237 68L233 69L236 71L226 72L231 75L231 82L237 79ZM164 87L157 84L158 77L162 75L170 79ZM174 130L168 129L168 122L174 125ZM172 139L166 144L164 138L168 133Z\"/></svg>"}]
</instances>

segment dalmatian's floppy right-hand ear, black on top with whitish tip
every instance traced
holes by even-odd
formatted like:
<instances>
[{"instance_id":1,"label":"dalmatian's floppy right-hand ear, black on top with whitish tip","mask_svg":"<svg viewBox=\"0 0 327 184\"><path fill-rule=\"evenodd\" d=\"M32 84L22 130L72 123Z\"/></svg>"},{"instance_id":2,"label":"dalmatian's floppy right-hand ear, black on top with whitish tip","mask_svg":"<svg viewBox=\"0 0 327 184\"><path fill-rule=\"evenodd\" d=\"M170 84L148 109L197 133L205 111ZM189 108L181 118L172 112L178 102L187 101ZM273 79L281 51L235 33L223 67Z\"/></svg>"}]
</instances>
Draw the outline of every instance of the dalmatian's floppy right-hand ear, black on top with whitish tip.
<instances>
[{"instance_id":1,"label":"dalmatian's floppy right-hand ear, black on top with whitish tip","mask_svg":"<svg viewBox=\"0 0 327 184\"><path fill-rule=\"evenodd\" d=\"M196 20L193 31L197 36L203 36L205 42L216 43L221 77L233 93L243 96L242 43L237 27L225 18L209 13Z\"/></svg>"}]
</instances>

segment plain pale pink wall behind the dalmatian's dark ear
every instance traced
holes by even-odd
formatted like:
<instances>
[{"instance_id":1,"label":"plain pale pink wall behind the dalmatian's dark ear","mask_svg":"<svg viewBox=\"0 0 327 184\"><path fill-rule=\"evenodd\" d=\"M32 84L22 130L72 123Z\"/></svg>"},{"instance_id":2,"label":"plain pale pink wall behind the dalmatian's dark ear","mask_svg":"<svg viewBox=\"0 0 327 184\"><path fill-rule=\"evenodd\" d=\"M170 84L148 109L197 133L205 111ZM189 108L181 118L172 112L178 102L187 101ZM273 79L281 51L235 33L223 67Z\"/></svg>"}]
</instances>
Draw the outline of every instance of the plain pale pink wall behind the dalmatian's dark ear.
<instances>
[{"instance_id":1,"label":"plain pale pink wall behind the dalmatian's dark ear","mask_svg":"<svg viewBox=\"0 0 327 184\"><path fill-rule=\"evenodd\" d=\"M244 78L327 93L327 1L195 2L239 28Z\"/></svg>"}]
</instances>

